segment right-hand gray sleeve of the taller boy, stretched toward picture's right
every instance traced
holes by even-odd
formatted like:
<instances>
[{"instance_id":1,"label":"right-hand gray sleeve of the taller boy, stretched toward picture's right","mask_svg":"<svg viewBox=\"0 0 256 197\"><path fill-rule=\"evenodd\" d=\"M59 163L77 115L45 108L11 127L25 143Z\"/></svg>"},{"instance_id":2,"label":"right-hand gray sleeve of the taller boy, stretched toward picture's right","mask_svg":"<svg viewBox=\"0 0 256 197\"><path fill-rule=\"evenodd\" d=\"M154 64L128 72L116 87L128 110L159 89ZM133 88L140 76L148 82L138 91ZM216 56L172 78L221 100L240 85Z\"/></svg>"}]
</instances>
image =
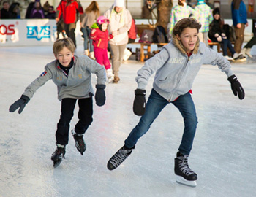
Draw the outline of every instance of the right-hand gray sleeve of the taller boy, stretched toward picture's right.
<instances>
[{"instance_id":1,"label":"right-hand gray sleeve of the taller boy, stretched toward picture's right","mask_svg":"<svg viewBox=\"0 0 256 197\"><path fill-rule=\"evenodd\" d=\"M204 45L202 42L200 42L200 45L203 45L204 50L203 64L211 64L213 66L217 65L222 72L227 74L227 77L233 75L230 62L227 61L222 54L219 54L217 51L206 47L206 45Z\"/></svg>"}]
</instances>

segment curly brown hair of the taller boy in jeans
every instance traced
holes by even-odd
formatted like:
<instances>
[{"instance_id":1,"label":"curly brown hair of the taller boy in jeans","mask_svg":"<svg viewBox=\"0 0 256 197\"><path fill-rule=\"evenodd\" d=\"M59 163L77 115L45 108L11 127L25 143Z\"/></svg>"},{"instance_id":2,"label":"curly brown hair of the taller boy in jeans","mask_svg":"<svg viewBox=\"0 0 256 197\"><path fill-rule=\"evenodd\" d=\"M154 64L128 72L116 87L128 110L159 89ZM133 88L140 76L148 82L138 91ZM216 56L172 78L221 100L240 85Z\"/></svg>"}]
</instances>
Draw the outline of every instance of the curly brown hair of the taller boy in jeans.
<instances>
[{"instance_id":1,"label":"curly brown hair of the taller boy in jeans","mask_svg":"<svg viewBox=\"0 0 256 197\"><path fill-rule=\"evenodd\" d=\"M178 20L178 23L173 28L173 36L181 36L182 31L184 28L196 28L197 32L201 28L201 24L197 22L194 18L182 18Z\"/></svg>"}]
</instances>

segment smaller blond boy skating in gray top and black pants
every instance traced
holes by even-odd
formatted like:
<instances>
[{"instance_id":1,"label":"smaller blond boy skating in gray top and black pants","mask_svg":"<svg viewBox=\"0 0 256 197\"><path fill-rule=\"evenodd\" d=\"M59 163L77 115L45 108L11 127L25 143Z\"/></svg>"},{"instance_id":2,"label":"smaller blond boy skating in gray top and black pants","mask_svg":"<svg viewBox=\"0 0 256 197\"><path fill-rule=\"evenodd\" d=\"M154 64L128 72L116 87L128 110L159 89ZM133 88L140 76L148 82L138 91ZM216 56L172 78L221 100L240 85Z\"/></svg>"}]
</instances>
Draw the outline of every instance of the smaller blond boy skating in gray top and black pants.
<instances>
[{"instance_id":1,"label":"smaller blond boy skating in gray top and black pants","mask_svg":"<svg viewBox=\"0 0 256 197\"><path fill-rule=\"evenodd\" d=\"M73 116L75 103L78 100L78 123L72 129L75 147L83 155L86 144L83 134L92 122L92 96L94 90L91 85L91 73L97 75L95 100L98 106L105 104L105 69L87 56L74 55L75 45L70 38L59 39L53 44L53 54L56 60L45 66L45 71L26 88L23 95L10 106L9 111L15 112L19 108L20 114L38 88L48 80L53 80L58 88L58 99L61 101L61 117L57 124L57 149L51 157L53 166L59 166L66 153L69 140L69 123Z\"/></svg>"}]
</instances>

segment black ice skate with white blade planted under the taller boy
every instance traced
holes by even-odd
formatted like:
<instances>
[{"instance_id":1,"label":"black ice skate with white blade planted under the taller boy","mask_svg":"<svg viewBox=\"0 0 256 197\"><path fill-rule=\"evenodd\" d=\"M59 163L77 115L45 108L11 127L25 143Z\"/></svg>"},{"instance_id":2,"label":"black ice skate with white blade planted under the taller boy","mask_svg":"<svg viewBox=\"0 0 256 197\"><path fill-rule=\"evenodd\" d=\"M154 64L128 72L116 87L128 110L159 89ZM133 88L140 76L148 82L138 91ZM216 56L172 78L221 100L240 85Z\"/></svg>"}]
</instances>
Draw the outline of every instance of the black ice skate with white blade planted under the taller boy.
<instances>
[{"instance_id":1,"label":"black ice skate with white blade planted under the taller boy","mask_svg":"<svg viewBox=\"0 0 256 197\"><path fill-rule=\"evenodd\" d=\"M176 174L176 182L195 187L197 185L197 174L192 169L189 169L187 158L189 155L182 155L177 152L177 157L174 159L174 172Z\"/></svg>"}]
</instances>

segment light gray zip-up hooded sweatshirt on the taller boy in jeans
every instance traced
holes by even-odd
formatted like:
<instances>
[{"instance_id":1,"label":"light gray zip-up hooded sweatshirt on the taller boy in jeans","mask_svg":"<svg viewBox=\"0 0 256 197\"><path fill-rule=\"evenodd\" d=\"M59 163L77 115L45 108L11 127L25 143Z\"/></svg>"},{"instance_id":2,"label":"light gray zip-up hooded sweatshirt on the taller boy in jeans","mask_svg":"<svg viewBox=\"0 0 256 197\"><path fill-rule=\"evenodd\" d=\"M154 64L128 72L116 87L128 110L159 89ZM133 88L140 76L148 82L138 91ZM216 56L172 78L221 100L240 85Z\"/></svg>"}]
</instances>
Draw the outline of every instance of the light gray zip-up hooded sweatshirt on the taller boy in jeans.
<instances>
[{"instance_id":1,"label":"light gray zip-up hooded sweatshirt on the taller boy in jeans","mask_svg":"<svg viewBox=\"0 0 256 197\"><path fill-rule=\"evenodd\" d=\"M173 36L169 44L138 70L138 77L136 77L138 89L145 90L149 77L156 72L153 82L154 90L167 101L174 101L178 96L191 90L202 64L218 65L227 77L233 74L229 61L206 47L203 42L197 41L192 55L188 57L181 42Z\"/></svg>"}]
</instances>

